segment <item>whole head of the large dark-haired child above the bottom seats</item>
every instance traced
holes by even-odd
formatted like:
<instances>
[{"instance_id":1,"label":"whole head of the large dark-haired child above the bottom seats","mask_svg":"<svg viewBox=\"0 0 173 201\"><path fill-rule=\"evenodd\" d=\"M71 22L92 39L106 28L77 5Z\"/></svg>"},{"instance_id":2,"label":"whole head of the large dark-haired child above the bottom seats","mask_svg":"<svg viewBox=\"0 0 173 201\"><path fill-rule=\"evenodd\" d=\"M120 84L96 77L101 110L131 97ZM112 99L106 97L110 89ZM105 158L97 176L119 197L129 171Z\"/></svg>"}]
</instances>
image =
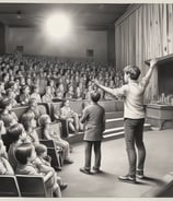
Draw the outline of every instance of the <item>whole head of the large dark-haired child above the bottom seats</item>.
<instances>
[{"instance_id":1,"label":"whole head of the large dark-haired child above the bottom seats","mask_svg":"<svg viewBox=\"0 0 173 201\"><path fill-rule=\"evenodd\" d=\"M14 154L18 162L22 165L26 165L28 162L33 162L36 158L35 147L31 143L20 144Z\"/></svg>"}]
</instances>

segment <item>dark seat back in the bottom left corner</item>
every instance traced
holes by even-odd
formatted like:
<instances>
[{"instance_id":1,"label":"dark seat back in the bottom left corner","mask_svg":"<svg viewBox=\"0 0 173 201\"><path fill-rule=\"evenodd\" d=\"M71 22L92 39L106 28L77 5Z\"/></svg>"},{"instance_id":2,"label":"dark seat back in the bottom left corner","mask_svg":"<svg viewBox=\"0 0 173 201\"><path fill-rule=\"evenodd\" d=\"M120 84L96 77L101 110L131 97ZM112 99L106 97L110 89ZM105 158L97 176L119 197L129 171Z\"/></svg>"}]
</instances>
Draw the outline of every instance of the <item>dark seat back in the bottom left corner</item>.
<instances>
[{"instance_id":1,"label":"dark seat back in the bottom left corner","mask_svg":"<svg viewBox=\"0 0 173 201\"><path fill-rule=\"evenodd\" d=\"M0 197L20 197L15 176L0 175Z\"/></svg>"}]
</instances>

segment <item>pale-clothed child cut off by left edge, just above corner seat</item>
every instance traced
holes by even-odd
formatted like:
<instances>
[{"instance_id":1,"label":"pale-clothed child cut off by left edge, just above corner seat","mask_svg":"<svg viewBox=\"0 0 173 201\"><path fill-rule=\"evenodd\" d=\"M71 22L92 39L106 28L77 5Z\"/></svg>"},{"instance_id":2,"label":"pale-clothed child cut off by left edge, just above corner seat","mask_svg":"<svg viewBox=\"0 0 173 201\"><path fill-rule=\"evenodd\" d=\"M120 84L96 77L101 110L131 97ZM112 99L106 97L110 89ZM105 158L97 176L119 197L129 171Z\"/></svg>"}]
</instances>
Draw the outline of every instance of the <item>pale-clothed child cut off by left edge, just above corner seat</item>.
<instances>
[{"instance_id":1,"label":"pale-clothed child cut off by left edge, just above corner seat","mask_svg":"<svg viewBox=\"0 0 173 201\"><path fill-rule=\"evenodd\" d=\"M14 175L13 168L8 161L8 154L2 140L0 140L0 175Z\"/></svg>"}]
</instances>

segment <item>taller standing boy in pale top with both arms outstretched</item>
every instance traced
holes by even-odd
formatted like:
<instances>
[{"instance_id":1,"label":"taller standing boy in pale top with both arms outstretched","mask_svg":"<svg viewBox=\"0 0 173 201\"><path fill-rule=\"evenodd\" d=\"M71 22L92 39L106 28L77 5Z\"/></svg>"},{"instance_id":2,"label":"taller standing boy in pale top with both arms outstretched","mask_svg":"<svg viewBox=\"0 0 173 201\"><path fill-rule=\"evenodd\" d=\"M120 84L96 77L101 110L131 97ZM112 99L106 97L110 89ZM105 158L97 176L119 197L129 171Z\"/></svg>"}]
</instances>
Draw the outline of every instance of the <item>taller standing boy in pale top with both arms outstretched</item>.
<instances>
[{"instance_id":1,"label":"taller standing boy in pale top with both arms outstretched","mask_svg":"<svg viewBox=\"0 0 173 201\"><path fill-rule=\"evenodd\" d=\"M101 85L97 80L95 84L105 92L114 96L124 97L124 127L125 127L125 141L129 162L129 173L125 176L119 176L118 179L126 182L136 182L136 176L143 178L143 166L146 158L146 149L143 144L143 123L145 123L145 107L143 94L149 83L152 71L157 64L157 60L150 61L150 69L146 76L138 82L140 70L136 66L127 66L124 69L125 85L119 88L109 88ZM135 145L138 150L138 165L137 153Z\"/></svg>"}]
</instances>

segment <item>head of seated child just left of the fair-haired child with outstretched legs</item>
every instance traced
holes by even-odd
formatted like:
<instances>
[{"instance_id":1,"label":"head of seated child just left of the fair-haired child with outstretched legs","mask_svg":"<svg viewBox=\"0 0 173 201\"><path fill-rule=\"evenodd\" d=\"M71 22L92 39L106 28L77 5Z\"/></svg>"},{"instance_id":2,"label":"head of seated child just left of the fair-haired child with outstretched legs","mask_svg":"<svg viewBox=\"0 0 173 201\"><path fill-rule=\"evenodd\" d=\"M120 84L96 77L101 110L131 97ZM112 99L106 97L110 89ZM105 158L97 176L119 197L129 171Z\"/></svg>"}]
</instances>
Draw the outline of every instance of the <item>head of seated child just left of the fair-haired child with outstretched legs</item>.
<instances>
[{"instance_id":1,"label":"head of seated child just left of the fair-haired child with outstretched legs","mask_svg":"<svg viewBox=\"0 0 173 201\"><path fill-rule=\"evenodd\" d=\"M24 129L27 131L30 128L36 128L36 120L35 120L35 115L33 111L27 111L23 114L22 116L22 125L24 126Z\"/></svg>"}]
</instances>

